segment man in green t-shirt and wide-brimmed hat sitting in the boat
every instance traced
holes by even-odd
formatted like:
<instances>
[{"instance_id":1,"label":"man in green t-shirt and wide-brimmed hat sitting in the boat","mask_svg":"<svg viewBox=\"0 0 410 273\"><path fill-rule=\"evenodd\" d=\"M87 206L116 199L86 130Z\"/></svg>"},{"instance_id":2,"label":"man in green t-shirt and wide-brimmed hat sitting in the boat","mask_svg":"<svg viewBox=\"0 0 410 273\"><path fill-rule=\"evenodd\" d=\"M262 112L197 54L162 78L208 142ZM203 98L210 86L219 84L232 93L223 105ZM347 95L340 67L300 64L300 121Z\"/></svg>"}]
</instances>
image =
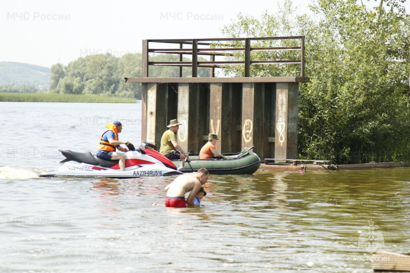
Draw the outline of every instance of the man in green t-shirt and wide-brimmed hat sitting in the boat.
<instances>
[{"instance_id":1,"label":"man in green t-shirt and wide-brimmed hat sitting in the boat","mask_svg":"<svg viewBox=\"0 0 410 273\"><path fill-rule=\"evenodd\" d=\"M176 142L176 132L179 129L178 120L172 119L167 126L169 130L165 131L161 137L161 146L159 153L165 155L170 160L185 159L189 154L182 150L181 146Z\"/></svg>"}]
</instances>

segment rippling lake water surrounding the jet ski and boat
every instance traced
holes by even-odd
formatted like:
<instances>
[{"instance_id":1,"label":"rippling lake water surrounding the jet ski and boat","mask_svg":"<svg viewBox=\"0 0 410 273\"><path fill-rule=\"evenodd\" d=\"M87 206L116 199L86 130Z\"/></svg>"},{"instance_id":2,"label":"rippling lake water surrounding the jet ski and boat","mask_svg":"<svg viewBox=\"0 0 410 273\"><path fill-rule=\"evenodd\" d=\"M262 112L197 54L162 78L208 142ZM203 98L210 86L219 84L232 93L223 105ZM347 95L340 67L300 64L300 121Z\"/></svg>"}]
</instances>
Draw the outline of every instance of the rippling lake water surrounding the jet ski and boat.
<instances>
[{"instance_id":1,"label":"rippling lake water surrounding the jet ski and boat","mask_svg":"<svg viewBox=\"0 0 410 273\"><path fill-rule=\"evenodd\" d=\"M199 208L152 205L175 177L37 177L114 120L139 144L140 112L0 102L0 272L373 272L371 220L410 252L409 169L212 176Z\"/></svg>"}]
</instances>

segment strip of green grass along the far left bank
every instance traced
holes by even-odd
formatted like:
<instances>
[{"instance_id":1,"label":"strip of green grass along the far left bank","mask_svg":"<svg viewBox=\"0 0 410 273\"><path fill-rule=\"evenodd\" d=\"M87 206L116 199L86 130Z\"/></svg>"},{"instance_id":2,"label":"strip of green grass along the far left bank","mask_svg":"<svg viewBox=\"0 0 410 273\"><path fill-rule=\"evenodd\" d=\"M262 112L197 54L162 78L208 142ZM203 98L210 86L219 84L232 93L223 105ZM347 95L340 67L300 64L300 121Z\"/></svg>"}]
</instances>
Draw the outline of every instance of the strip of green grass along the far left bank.
<instances>
[{"instance_id":1,"label":"strip of green grass along the far left bank","mask_svg":"<svg viewBox=\"0 0 410 273\"><path fill-rule=\"evenodd\" d=\"M9 102L88 102L88 103L135 103L136 99L105 97L99 95L0 93L0 101Z\"/></svg>"}]
</instances>

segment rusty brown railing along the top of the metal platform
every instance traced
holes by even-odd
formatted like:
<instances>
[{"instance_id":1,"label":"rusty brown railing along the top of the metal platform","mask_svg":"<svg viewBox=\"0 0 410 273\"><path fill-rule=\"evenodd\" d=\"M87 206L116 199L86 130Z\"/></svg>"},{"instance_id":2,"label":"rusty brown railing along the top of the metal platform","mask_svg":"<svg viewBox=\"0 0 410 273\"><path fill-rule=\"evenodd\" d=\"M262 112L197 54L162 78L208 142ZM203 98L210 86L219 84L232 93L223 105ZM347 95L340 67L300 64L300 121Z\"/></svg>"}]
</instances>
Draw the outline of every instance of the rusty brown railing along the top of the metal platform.
<instances>
[{"instance_id":1,"label":"rusty brown railing along the top of the metal platform","mask_svg":"<svg viewBox=\"0 0 410 273\"><path fill-rule=\"evenodd\" d=\"M300 46L297 47L252 47L253 40L285 40L298 39ZM221 42L244 41L244 47L232 47ZM150 43L179 44L179 48L150 48ZM190 48L183 48L189 45ZM217 47L215 47L217 46ZM215 47L215 48L214 48ZM293 60L252 60L252 51L285 51L299 50L300 59ZM215 61L215 56L233 56L235 52L244 52L243 61ZM179 61L149 61L149 53L179 54ZM191 55L192 61L182 61L183 55ZM211 56L209 61L198 61L198 55ZM265 64L300 64L300 76L304 77L304 36L288 37L252 37L252 38L209 38L209 39L147 39L142 40L142 77L148 77L149 66L177 66L179 77L182 77L182 67L192 67L192 77L197 77L198 67L211 69L210 75L214 76L215 68L223 68L227 65L244 65L244 76L250 77L251 65Z\"/></svg>"}]
</instances>

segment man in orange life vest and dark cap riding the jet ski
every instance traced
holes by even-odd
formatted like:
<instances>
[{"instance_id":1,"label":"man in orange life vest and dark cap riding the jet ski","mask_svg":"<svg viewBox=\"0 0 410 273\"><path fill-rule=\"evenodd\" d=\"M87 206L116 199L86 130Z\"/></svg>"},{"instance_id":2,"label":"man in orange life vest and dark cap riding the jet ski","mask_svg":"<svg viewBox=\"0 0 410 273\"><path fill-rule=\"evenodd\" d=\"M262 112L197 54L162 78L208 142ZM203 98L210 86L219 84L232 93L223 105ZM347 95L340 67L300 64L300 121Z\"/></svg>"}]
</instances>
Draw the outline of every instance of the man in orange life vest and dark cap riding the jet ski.
<instances>
[{"instance_id":1,"label":"man in orange life vest and dark cap riding the jet ski","mask_svg":"<svg viewBox=\"0 0 410 273\"><path fill-rule=\"evenodd\" d=\"M121 147L120 144L130 144L130 141L119 141L118 134L122 131L122 124L119 121L114 121L112 124L106 125L108 129L101 135L101 140L98 145L96 156L106 160L119 159L119 169L124 172L126 156L123 153L115 152L118 149L121 152L130 151L127 147Z\"/></svg>"}]
</instances>

